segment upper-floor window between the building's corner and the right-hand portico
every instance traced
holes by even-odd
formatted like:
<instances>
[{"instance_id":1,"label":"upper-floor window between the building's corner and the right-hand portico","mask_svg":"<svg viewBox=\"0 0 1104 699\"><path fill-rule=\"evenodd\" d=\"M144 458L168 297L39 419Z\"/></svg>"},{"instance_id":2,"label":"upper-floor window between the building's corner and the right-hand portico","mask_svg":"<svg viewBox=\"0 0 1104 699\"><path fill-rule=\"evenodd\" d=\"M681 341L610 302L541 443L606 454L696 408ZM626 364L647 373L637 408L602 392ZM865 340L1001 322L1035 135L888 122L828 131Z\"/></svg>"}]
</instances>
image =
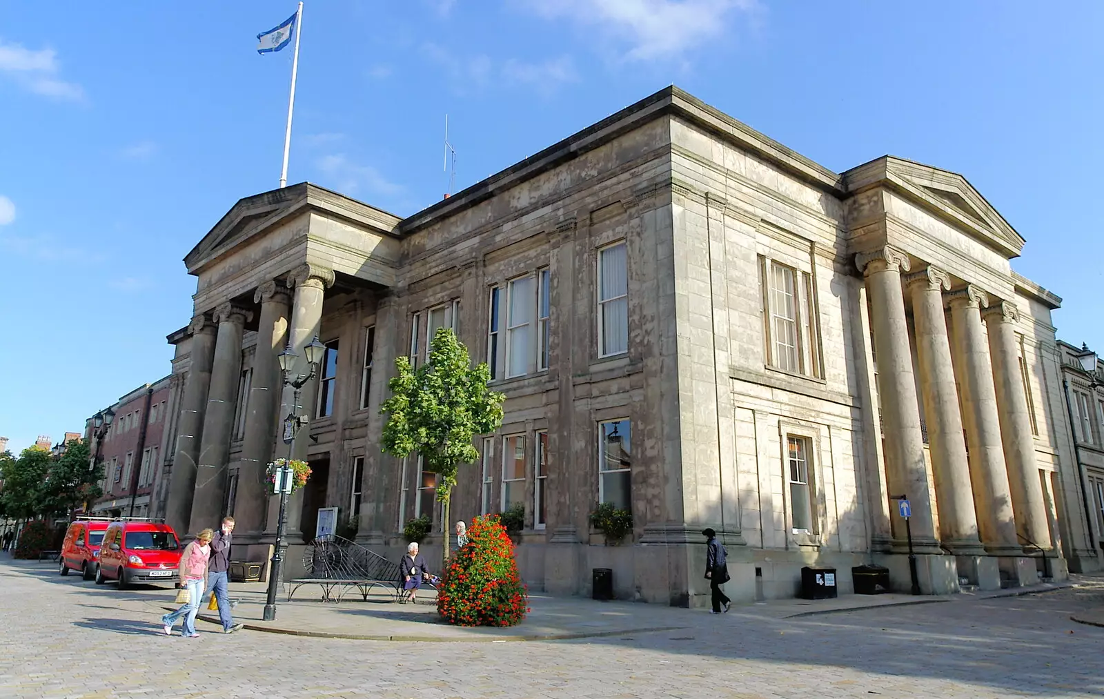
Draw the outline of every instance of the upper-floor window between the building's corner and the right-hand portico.
<instances>
[{"instance_id":1,"label":"upper-floor window between the building's corner and the right-hand portico","mask_svg":"<svg viewBox=\"0 0 1104 699\"><path fill-rule=\"evenodd\" d=\"M824 378L813 275L760 257L767 364L789 373Z\"/></svg>"}]
</instances>

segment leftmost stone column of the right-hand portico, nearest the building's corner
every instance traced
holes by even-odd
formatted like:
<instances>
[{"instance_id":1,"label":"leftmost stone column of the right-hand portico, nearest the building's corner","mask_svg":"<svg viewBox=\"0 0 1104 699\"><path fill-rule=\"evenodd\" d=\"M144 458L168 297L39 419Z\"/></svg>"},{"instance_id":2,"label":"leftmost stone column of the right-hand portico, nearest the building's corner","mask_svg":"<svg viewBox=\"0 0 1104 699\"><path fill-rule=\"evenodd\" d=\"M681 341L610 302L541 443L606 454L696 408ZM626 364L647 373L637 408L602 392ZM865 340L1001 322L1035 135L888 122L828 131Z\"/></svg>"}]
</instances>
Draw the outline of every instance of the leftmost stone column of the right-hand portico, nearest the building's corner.
<instances>
[{"instance_id":1,"label":"leftmost stone column of the right-hand portico, nearest the building's corner","mask_svg":"<svg viewBox=\"0 0 1104 699\"><path fill-rule=\"evenodd\" d=\"M870 324L878 356L878 388L885 435L885 470L890 496L906 495L912 506L912 540L917 553L942 553L935 538L928 499L924 439L920 430L920 403L912 371L909 325L904 315L901 272L909 257L887 245L860 253L856 266L866 277L870 297ZM904 521L891 517L896 547L904 546Z\"/></svg>"}]
</instances>

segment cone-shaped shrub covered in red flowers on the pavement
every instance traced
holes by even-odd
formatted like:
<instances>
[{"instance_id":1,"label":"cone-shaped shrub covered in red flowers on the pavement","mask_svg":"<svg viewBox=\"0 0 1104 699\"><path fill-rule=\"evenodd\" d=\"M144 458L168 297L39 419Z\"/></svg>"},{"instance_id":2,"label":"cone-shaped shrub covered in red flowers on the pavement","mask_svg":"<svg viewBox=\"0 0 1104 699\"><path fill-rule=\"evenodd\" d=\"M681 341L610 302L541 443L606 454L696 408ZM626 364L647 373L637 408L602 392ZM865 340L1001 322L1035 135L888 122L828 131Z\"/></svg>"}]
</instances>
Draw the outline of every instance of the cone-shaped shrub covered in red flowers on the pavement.
<instances>
[{"instance_id":1,"label":"cone-shaped shrub covered in red flowers on the pavement","mask_svg":"<svg viewBox=\"0 0 1104 699\"><path fill-rule=\"evenodd\" d=\"M468 543L448 559L437 589L437 613L460 626L513 626L529 613L513 542L498 516L476 517Z\"/></svg>"}]
</instances>

